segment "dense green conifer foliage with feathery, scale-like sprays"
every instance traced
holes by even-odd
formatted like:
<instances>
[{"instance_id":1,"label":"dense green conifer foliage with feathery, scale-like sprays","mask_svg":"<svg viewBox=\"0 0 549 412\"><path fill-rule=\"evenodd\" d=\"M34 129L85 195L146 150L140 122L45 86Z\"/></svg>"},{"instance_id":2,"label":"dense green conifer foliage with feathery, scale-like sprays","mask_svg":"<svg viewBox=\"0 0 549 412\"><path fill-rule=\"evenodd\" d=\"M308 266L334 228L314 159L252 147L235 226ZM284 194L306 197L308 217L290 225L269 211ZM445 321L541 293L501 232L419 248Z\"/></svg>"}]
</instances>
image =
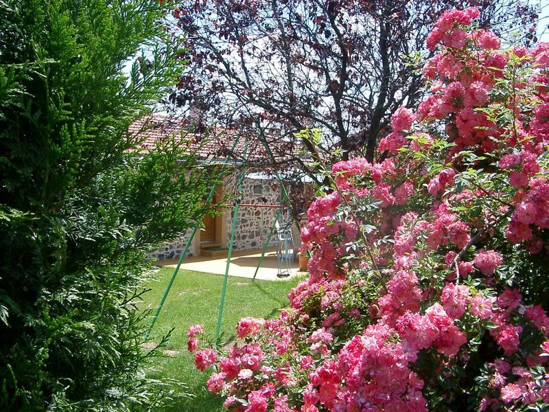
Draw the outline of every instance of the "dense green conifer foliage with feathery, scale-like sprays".
<instances>
[{"instance_id":1,"label":"dense green conifer foliage with feathery, scale-like sprays","mask_svg":"<svg viewBox=\"0 0 549 412\"><path fill-rule=\"evenodd\" d=\"M182 66L162 7L0 0L1 411L161 391L143 374L145 255L200 219L214 179L173 141L138 159L128 133Z\"/></svg>"}]
</instances>

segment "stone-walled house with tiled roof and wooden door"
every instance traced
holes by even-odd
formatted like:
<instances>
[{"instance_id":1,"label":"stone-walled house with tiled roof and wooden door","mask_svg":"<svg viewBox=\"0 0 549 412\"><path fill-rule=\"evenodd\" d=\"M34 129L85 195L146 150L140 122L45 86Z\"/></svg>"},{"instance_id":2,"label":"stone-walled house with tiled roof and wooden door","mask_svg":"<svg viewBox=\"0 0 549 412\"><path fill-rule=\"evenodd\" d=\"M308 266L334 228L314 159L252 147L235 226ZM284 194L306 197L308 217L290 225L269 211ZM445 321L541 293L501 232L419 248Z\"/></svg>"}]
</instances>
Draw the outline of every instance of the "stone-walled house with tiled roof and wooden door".
<instances>
[{"instance_id":1,"label":"stone-walled house with tiled roof and wooden door","mask_svg":"<svg viewBox=\"0 0 549 412\"><path fill-rule=\"evenodd\" d=\"M189 152L198 155L200 161L208 163L223 163L229 159L229 168L233 170L226 176L223 185L220 185L214 196L214 203L232 195L236 187L237 175L246 163L246 176L240 192L240 208L237 216L235 240L233 250L261 249L266 242L268 232L277 213L277 207L281 199L281 186L277 179L264 173L268 164L272 164L270 157L257 136L248 135L241 137L231 150L237 131L226 128L213 128L206 132L189 131L191 124L185 119L155 115L141 119L130 127L130 133L145 137L143 150L152 150L162 139L181 136L184 144L189 146ZM272 155L275 162L283 162L288 158L289 148L281 139L266 137L269 147L273 149ZM247 141L247 144L244 141ZM291 144L290 144L291 145ZM246 152L246 159L244 159ZM231 222L234 206L218 209L218 216L205 216L203 228L196 232L187 256L212 256L222 257L226 255L226 247L231 235ZM164 244L163 247L152 251L150 254L159 260L179 258L191 229L185 236ZM270 245L277 242L276 236L272 237Z\"/></svg>"}]
</instances>

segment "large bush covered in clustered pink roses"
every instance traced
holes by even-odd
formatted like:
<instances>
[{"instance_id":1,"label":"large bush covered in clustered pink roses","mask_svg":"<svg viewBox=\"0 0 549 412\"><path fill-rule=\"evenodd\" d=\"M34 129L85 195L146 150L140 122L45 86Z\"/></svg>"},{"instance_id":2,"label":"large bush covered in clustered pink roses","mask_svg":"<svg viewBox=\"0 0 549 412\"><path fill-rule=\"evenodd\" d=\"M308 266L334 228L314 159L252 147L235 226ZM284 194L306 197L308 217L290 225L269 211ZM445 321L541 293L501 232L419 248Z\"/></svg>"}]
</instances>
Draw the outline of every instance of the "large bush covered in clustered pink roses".
<instances>
[{"instance_id":1,"label":"large bush covered in clustered pink roses","mask_svg":"<svg viewBox=\"0 0 549 412\"><path fill-rule=\"evenodd\" d=\"M549 409L549 44L501 49L477 17L436 23L382 160L331 167L290 306L226 353L189 330L229 411Z\"/></svg>"}]
</instances>

